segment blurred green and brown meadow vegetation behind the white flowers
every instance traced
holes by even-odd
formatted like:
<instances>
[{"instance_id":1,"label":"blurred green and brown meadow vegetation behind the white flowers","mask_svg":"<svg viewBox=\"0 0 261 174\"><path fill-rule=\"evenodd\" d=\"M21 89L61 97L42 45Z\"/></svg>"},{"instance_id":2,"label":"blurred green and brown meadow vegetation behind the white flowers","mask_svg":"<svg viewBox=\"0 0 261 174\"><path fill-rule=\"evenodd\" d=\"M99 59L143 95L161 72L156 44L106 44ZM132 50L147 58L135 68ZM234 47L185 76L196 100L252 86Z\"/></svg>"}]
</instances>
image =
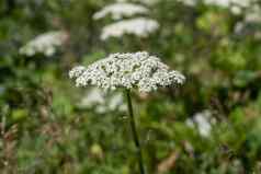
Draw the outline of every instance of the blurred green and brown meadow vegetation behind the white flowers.
<instances>
[{"instance_id":1,"label":"blurred green and brown meadow vegetation behind the white flowers","mask_svg":"<svg viewBox=\"0 0 261 174\"><path fill-rule=\"evenodd\" d=\"M110 19L92 15L111 2L0 1L0 173L135 174L126 113L80 107L90 89L75 88L68 70L138 50L188 78L179 89L134 92L149 174L261 173L261 20L245 23L243 12L160 0L148 5L160 24L150 37L104 42L101 27ZM56 30L69 37L54 56L19 53Z\"/></svg>"}]
</instances>

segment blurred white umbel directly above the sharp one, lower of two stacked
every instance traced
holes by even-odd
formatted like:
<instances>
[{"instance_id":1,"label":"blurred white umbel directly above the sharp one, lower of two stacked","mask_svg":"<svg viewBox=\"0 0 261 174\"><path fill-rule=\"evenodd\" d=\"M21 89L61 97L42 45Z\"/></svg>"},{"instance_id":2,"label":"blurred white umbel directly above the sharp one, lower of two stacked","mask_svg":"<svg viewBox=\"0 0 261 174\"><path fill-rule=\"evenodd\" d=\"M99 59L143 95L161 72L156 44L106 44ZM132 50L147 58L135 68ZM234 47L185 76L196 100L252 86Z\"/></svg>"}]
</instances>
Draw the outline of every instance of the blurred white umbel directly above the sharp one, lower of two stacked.
<instances>
[{"instance_id":1,"label":"blurred white umbel directly above the sharp one, lower of two stacked","mask_svg":"<svg viewBox=\"0 0 261 174\"><path fill-rule=\"evenodd\" d=\"M103 27L101 39L104 40L110 37L122 37L125 34L148 37L148 35L158 30L158 27L159 24L157 21L146 18L124 20Z\"/></svg>"}]
</instances>

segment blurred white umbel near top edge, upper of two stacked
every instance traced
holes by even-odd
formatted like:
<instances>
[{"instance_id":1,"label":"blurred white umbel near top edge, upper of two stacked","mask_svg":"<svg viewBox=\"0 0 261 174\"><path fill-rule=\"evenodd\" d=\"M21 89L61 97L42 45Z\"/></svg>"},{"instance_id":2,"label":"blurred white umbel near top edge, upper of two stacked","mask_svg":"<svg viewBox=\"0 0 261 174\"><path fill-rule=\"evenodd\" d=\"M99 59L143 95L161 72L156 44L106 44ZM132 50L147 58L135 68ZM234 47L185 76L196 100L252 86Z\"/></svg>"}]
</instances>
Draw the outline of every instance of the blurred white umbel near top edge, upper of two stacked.
<instances>
[{"instance_id":1,"label":"blurred white umbel near top edge, upper of two stacked","mask_svg":"<svg viewBox=\"0 0 261 174\"><path fill-rule=\"evenodd\" d=\"M128 2L117 2L110 5L106 5L102 10L98 11L93 14L94 20L103 19L107 15L111 15L113 20L120 20L124 16L133 16L136 14L147 14L148 9L135 3L128 3Z\"/></svg>"}]
</instances>

